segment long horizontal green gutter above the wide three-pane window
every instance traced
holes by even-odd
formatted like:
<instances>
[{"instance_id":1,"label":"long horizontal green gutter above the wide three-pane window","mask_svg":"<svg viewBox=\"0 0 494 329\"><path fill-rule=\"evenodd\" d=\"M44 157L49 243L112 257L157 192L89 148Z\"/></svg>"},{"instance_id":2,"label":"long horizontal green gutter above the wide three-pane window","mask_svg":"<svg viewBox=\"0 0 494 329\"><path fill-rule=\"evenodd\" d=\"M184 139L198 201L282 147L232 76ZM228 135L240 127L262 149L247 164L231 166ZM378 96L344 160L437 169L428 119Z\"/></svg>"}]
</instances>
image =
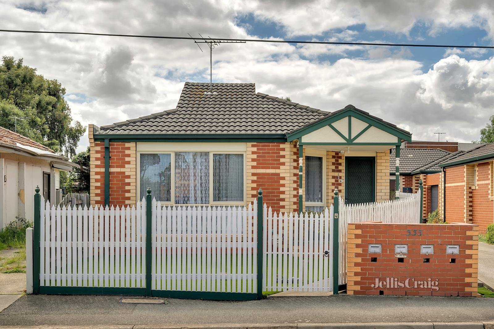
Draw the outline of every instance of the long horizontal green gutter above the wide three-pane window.
<instances>
[{"instance_id":1,"label":"long horizontal green gutter above the wide three-pane window","mask_svg":"<svg viewBox=\"0 0 494 329\"><path fill-rule=\"evenodd\" d=\"M96 142L261 143L287 142L285 134L94 134Z\"/></svg>"}]
</instances>

